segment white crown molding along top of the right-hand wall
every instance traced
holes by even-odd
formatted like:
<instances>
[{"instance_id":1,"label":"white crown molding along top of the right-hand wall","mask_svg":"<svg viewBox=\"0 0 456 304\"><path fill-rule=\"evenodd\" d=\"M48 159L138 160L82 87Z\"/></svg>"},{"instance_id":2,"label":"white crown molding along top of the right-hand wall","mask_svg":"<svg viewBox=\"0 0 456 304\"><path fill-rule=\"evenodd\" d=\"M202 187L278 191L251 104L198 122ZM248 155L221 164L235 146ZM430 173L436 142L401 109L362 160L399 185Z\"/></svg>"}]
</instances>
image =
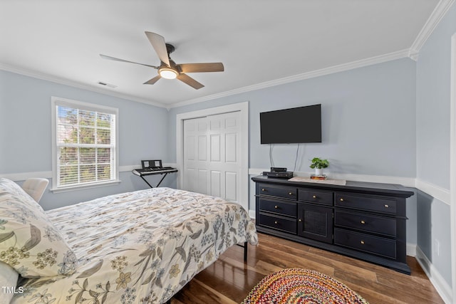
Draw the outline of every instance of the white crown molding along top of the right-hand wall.
<instances>
[{"instance_id":1,"label":"white crown molding along top of the right-hand wall","mask_svg":"<svg viewBox=\"0 0 456 304\"><path fill-rule=\"evenodd\" d=\"M421 28L420 33L418 33L418 36L416 37L415 41L413 41L413 44L410 47L410 53L414 54L414 56L416 56L416 59L413 59L412 56L410 56L410 58L412 58L415 61L418 60L418 53L420 52L420 49L423 47L423 45L427 41L427 38L429 38L432 31L435 30L438 23L440 23L443 16L445 16L447 11L454 3L455 0L440 0L439 3L437 3L434 11L432 11L432 14L430 14L425 25L423 26L423 28Z\"/></svg>"}]
</instances>

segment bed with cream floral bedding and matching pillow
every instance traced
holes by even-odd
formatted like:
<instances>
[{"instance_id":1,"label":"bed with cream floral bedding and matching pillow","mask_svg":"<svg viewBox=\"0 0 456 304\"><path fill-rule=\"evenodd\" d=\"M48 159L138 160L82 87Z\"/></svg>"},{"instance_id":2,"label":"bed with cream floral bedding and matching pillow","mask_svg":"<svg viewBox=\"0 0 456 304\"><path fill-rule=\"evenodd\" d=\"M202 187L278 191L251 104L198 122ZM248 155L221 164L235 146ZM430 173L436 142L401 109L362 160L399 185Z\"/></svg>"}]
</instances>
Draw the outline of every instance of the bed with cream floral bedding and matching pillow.
<instances>
[{"instance_id":1,"label":"bed with cream floral bedding and matching pillow","mask_svg":"<svg viewBox=\"0 0 456 304\"><path fill-rule=\"evenodd\" d=\"M247 212L214 196L161 187L43 211L0 179L0 266L20 274L11 303L165 303L244 242L258 242Z\"/></svg>"}]
</instances>

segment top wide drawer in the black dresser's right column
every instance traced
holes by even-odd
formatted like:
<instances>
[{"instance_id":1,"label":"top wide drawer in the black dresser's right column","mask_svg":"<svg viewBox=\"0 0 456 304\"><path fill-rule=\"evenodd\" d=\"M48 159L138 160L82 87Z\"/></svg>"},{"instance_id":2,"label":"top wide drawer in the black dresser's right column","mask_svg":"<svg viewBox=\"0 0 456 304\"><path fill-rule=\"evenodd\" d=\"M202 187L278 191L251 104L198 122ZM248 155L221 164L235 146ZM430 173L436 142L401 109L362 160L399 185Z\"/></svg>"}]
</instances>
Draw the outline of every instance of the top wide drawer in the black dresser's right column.
<instances>
[{"instance_id":1,"label":"top wide drawer in the black dresser's right column","mask_svg":"<svg viewBox=\"0 0 456 304\"><path fill-rule=\"evenodd\" d=\"M387 214L396 213L395 199L381 196L358 196L356 194L335 193L334 206L377 211Z\"/></svg>"}]
</instances>

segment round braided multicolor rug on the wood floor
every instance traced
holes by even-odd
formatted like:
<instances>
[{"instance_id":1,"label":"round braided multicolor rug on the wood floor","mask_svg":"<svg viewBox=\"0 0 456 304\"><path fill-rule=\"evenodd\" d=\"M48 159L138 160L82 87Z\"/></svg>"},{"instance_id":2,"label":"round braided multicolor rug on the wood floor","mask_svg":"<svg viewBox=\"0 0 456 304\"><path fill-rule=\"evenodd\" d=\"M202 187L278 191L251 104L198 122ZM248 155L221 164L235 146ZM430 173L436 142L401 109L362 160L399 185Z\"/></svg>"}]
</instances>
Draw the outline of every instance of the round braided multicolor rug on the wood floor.
<instances>
[{"instance_id":1,"label":"round braided multicolor rug on the wood floor","mask_svg":"<svg viewBox=\"0 0 456 304\"><path fill-rule=\"evenodd\" d=\"M356 303L366 300L345 284L317 271L289 268L264 277L242 304Z\"/></svg>"}]
</instances>

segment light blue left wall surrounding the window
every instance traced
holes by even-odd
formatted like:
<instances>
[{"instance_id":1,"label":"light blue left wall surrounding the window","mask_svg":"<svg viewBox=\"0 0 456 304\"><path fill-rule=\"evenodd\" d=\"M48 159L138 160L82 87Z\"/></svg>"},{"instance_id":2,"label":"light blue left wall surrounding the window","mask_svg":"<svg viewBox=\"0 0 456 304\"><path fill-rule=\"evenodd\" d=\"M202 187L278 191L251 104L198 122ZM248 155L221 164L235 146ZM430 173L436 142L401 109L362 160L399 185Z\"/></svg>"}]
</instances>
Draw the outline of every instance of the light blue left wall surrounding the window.
<instances>
[{"instance_id":1,"label":"light blue left wall surrounding the window","mask_svg":"<svg viewBox=\"0 0 456 304\"><path fill-rule=\"evenodd\" d=\"M51 96L119 109L120 167L140 167L141 159L167 161L166 109L0 70L0 174L51 172ZM120 172L120 179L120 184L110 187L46 192L41 204L51 209L147 188L131 172ZM150 178L152 183L157 179ZM163 185L175 187L175 174Z\"/></svg>"}]
</instances>

